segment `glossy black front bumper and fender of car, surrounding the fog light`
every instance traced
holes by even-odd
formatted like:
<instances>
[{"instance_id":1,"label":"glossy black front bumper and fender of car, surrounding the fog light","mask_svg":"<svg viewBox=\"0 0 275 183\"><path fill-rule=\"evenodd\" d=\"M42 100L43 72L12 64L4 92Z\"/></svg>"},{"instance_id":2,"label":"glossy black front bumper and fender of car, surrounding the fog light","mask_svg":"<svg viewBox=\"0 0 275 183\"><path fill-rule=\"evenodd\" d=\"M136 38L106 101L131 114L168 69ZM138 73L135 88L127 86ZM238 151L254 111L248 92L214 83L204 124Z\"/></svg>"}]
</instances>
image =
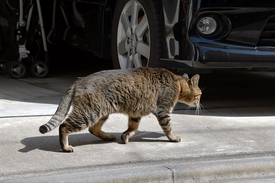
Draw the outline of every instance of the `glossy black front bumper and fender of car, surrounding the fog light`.
<instances>
[{"instance_id":1,"label":"glossy black front bumper and fender of car, surrounding the fog light","mask_svg":"<svg viewBox=\"0 0 275 183\"><path fill-rule=\"evenodd\" d=\"M271 46L259 44L267 20L275 15L273 1L162 2L168 54L159 65L174 61L183 68L275 66L275 48L271 47L275 41ZM203 16L215 17L219 31L211 36L198 33L196 23Z\"/></svg>"}]
</instances>

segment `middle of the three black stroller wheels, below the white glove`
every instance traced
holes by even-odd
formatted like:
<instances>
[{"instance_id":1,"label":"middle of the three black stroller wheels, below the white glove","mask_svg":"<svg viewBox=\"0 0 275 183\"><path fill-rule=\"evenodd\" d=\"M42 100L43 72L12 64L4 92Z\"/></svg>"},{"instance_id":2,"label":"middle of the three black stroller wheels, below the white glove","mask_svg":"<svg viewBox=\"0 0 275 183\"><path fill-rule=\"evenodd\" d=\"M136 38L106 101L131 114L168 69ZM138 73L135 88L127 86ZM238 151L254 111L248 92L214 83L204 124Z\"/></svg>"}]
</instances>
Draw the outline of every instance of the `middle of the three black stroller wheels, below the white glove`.
<instances>
[{"instance_id":1,"label":"middle of the three black stroller wheels, below the white glove","mask_svg":"<svg viewBox=\"0 0 275 183\"><path fill-rule=\"evenodd\" d=\"M12 61L8 64L7 74L11 78L22 78L26 74L26 66L22 62Z\"/></svg>"}]
</instances>

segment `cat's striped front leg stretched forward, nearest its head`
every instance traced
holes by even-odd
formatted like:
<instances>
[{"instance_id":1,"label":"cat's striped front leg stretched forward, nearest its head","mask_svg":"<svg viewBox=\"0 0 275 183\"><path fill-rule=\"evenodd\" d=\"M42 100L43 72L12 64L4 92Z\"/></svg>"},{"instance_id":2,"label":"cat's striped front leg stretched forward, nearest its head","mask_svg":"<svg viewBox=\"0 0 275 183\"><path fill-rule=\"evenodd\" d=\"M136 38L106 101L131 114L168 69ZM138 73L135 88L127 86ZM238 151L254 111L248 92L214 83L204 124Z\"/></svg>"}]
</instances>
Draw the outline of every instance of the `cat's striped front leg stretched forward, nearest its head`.
<instances>
[{"instance_id":1,"label":"cat's striped front leg stretched forward, nearest its head","mask_svg":"<svg viewBox=\"0 0 275 183\"><path fill-rule=\"evenodd\" d=\"M159 112L156 117L167 138L171 142L181 142L182 138L180 136L175 136L172 132L171 114L169 112Z\"/></svg>"}]
</instances>

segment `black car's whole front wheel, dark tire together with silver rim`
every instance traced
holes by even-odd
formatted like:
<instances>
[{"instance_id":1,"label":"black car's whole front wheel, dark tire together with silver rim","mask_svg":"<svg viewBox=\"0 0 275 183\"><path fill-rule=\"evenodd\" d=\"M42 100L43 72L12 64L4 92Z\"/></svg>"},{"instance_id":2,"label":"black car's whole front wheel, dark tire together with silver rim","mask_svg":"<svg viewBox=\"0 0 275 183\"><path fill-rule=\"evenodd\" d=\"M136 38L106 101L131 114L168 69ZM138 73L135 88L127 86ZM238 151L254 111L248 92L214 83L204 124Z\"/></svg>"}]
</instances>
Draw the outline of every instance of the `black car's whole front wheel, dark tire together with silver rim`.
<instances>
[{"instance_id":1,"label":"black car's whole front wheel, dark tire together with silver rim","mask_svg":"<svg viewBox=\"0 0 275 183\"><path fill-rule=\"evenodd\" d=\"M161 13L159 0L116 2L111 39L115 69L156 67L162 50Z\"/></svg>"}]
</instances>

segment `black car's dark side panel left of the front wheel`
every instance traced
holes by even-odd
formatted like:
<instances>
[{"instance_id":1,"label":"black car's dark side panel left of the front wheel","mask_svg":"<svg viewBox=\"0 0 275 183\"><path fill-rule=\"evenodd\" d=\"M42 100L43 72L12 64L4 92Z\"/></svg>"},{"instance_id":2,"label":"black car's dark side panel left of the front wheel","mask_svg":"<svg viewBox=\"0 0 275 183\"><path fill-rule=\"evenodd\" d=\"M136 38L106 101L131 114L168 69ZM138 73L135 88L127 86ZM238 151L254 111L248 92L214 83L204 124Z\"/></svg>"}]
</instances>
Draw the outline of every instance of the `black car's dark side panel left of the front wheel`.
<instances>
[{"instance_id":1,"label":"black car's dark side panel left of the front wheel","mask_svg":"<svg viewBox=\"0 0 275 183\"><path fill-rule=\"evenodd\" d=\"M50 42L65 44L111 59L112 7L104 0L57 1L55 32Z\"/></svg>"}]
</instances>

